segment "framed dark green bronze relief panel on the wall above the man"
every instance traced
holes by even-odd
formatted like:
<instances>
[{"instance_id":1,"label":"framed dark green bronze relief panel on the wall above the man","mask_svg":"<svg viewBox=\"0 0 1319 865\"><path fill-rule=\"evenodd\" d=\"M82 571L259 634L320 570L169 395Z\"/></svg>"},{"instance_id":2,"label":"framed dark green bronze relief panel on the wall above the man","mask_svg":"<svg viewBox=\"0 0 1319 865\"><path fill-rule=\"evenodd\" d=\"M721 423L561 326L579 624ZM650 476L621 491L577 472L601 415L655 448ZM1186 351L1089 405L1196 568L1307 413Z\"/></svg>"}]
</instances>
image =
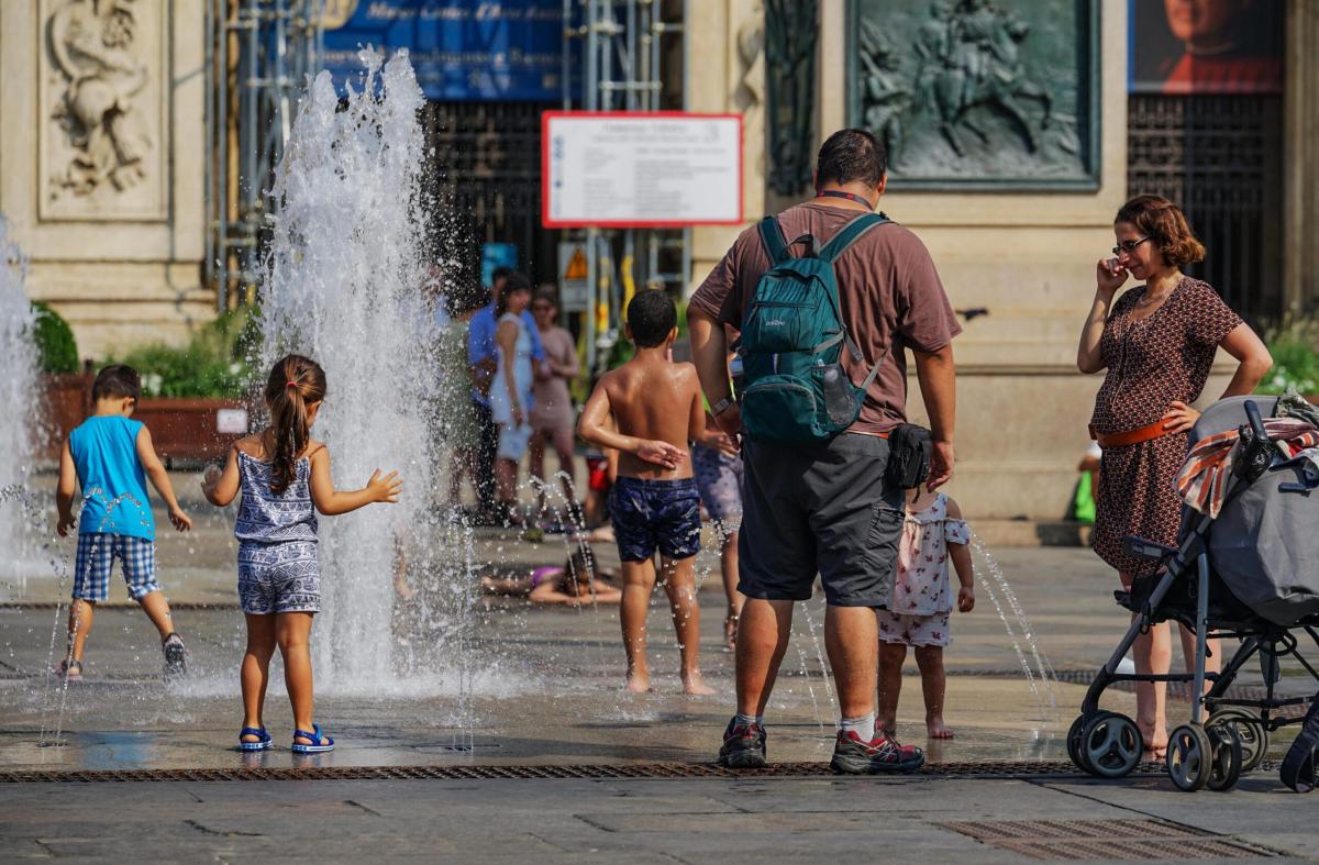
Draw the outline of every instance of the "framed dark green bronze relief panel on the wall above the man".
<instances>
[{"instance_id":1,"label":"framed dark green bronze relief panel on the wall above the man","mask_svg":"<svg viewBox=\"0 0 1319 865\"><path fill-rule=\"evenodd\" d=\"M853 0L852 123L896 181L1093 186L1092 4Z\"/></svg>"}]
</instances>

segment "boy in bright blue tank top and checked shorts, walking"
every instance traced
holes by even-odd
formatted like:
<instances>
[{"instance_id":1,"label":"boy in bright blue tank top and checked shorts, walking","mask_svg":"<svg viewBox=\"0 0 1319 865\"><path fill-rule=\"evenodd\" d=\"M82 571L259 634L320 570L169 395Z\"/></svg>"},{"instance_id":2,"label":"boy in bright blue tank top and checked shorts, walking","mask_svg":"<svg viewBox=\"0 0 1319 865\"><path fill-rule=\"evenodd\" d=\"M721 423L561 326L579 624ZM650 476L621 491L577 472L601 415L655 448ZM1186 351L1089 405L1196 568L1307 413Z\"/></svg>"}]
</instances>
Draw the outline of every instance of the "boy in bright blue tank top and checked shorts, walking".
<instances>
[{"instance_id":1,"label":"boy in bright blue tank top and checked shorts, walking","mask_svg":"<svg viewBox=\"0 0 1319 865\"><path fill-rule=\"evenodd\" d=\"M91 389L95 406L91 417L69 434L59 452L55 530L66 537L78 525L69 651L59 665L59 674L71 680L82 678L94 611L109 595L109 572L116 560L124 571L129 597L142 605L161 633L166 678L183 672L183 641L174 633L169 603L156 582L156 523L146 479L169 506L175 529L187 531L193 521L174 498L169 475L152 446L152 434L141 421L131 419L141 392L141 377L132 367L115 364L102 369ZM75 481L82 491L77 514Z\"/></svg>"}]
</instances>

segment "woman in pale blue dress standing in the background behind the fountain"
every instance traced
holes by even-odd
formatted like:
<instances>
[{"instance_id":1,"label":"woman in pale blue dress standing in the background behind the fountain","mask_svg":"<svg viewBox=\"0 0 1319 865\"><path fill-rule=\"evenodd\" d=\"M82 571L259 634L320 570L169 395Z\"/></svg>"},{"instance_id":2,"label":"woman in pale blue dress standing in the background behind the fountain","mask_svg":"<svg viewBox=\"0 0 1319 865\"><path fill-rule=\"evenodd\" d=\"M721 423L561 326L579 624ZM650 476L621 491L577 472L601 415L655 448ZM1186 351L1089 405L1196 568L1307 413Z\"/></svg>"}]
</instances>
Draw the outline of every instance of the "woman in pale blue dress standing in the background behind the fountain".
<instances>
[{"instance_id":1,"label":"woman in pale blue dress standing in the background behind the fountain","mask_svg":"<svg viewBox=\"0 0 1319 865\"><path fill-rule=\"evenodd\" d=\"M496 368L491 385L491 413L499 423L499 460L495 479L500 510L512 521L517 510L517 467L532 438L532 335L522 313L532 302L532 283L521 274L512 274L504 283L495 314Z\"/></svg>"}]
</instances>

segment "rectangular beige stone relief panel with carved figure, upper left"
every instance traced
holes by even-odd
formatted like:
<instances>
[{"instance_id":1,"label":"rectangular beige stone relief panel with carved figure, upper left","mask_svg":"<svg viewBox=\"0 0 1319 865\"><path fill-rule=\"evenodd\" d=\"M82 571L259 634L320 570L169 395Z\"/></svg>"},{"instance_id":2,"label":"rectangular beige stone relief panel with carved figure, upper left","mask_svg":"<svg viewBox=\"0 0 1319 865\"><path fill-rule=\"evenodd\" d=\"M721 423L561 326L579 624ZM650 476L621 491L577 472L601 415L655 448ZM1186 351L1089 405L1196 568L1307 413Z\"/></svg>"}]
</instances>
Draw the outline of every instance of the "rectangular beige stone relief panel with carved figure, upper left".
<instances>
[{"instance_id":1,"label":"rectangular beige stone relief panel with carved figure, upper left","mask_svg":"<svg viewBox=\"0 0 1319 865\"><path fill-rule=\"evenodd\" d=\"M41 218L164 219L164 0L42 0L41 21Z\"/></svg>"}]
</instances>

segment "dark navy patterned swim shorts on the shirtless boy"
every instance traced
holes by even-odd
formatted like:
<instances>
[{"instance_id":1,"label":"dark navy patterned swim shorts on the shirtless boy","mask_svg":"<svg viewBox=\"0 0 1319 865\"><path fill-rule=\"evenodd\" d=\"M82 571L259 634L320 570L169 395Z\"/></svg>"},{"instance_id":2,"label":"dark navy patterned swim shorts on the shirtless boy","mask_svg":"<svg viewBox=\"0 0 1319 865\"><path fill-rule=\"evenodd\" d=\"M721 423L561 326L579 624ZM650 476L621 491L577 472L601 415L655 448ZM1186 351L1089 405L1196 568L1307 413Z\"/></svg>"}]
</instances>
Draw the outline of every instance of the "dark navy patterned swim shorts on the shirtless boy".
<instances>
[{"instance_id":1,"label":"dark navy patterned swim shorts on the shirtless boy","mask_svg":"<svg viewBox=\"0 0 1319 865\"><path fill-rule=\"evenodd\" d=\"M666 559L689 559L700 551L700 493L691 477L619 477L609 520L624 562L645 562L656 549Z\"/></svg>"}]
</instances>

